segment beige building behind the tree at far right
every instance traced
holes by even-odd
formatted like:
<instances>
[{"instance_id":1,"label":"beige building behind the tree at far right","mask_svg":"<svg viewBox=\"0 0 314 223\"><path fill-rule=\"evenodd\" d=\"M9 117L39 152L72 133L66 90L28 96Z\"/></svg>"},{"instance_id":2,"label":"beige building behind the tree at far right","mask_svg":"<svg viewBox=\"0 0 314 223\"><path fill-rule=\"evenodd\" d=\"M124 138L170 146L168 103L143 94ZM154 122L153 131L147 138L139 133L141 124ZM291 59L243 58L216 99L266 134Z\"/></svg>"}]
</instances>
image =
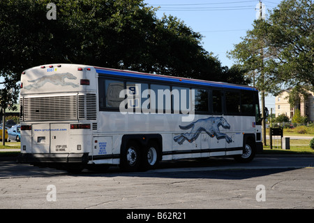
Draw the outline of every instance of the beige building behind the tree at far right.
<instances>
[{"instance_id":1,"label":"beige building behind the tree at far right","mask_svg":"<svg viewBox=\"0 0 314 223\"><path fill-rule=\"evenodd\" d=\"M314 92L309 92L306 100L301 99L301 103L297 106L291 107L287 96L289 95L289 89L283 90L281 94L278 94L275 99L276 117L278 115L285 114L292 120L296 109L301 111L302 116L307 116L308 120L314 122Z\"/></svg>"}]
</instances>

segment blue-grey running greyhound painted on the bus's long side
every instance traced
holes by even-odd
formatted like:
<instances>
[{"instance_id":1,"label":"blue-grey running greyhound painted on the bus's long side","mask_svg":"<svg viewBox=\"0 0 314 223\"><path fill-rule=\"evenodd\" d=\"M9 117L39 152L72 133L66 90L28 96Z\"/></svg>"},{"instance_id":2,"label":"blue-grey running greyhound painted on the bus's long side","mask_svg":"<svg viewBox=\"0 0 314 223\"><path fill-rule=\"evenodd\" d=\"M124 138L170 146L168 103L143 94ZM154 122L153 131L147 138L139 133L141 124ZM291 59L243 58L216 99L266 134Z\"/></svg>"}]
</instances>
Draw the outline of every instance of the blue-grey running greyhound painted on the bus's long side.
<instances>
[{"instance_id":1,"label":"blue-grey running greyhound painted on the bus's long side","mask_svg":"<svg viewBox=\"0 0 314 223\"><path fill-rule=\"evenodd\" d=\"M216 136L218 140L225 138L227 143L232 142L232 138L227 136L227 134L223 134L219 131L219 127L223 127L223 129L230 129L230 124L225 120L224 117L208 117L206 119L200 119L195 122L188 124L185 127L179 125L180 129L191 129L190 132L180 134L179 136L175 136L174 142L177 142L179 145L184 143L184 141L188 141L192 143L200 136L202 131L205 131L211 138Z\"/></svg>"}]
</instances>

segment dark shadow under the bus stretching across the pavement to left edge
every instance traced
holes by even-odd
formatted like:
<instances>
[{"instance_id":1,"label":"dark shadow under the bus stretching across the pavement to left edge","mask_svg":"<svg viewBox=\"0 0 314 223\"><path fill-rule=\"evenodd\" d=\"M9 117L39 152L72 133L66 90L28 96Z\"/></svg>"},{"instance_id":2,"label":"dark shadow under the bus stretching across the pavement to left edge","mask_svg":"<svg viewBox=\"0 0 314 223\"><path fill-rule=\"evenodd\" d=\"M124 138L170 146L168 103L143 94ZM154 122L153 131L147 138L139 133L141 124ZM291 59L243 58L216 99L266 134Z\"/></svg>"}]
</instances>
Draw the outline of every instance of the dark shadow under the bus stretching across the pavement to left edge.
<instances>
[{"instance_id":1,"label":"dark shadow under the bus stretching across the pavement to left edge","mask_svg":"<svg viewBox=\"0 0 314 223\"><path fill-rule=\"evenodd\" d=\"M105 171L90 171L84 169L80 173L70 173L65 170L49 167L31 166L29 164L17 164L15 161L1 161L0 178L23 177L54 177L58 175L83 176L83 177L139 177L139 178L205 178L221 180L242 180L256 178L263 175L271 175L285 171L292 171L297 167L283 168L283 166L265 165L267 160L254 159L248 164L239 164L234 159L209 158L209 159L184 159L161 161L156 169L148 171L124 172L118 166L110 166ZM301 167L299 167L301 168Z\"/></svg>"}]
</instances>

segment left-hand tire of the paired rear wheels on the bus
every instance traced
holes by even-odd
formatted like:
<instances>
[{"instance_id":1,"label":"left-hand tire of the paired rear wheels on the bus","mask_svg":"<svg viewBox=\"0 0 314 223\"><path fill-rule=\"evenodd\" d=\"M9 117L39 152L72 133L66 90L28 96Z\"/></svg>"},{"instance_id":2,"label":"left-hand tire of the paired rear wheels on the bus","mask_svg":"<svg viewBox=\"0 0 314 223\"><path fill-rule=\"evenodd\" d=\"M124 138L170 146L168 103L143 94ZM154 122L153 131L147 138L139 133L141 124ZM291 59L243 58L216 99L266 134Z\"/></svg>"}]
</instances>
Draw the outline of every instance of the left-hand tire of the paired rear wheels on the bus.
<instances>
[{"instance_id":1,"label":"left-hand tire of the paired rear wheels on the bus","mask_svg":"<svg viewBox=\"0 0 314 223\"><path fill-rule=\"evenodd\" d=\"M138 171L141 164L140 146L136 141L129 141L121 157L121 168L124 171Z\"/></svg>"}]
</instances>

